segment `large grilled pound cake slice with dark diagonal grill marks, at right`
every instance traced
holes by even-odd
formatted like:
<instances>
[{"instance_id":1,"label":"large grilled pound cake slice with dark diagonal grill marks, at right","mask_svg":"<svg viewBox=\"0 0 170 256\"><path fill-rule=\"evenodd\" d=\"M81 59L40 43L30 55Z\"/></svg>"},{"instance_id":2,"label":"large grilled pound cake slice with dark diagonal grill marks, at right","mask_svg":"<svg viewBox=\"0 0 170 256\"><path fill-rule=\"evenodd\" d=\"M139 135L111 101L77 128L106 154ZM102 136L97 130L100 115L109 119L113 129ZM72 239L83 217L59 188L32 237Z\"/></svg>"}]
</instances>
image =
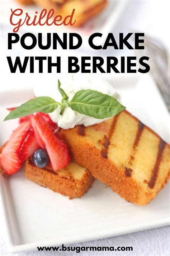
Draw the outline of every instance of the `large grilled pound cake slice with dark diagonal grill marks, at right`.
<instances>
[{"instance_id":1,"label":"large grilled pound cake slice with dark diagonal grill marks, at right","mask_svg":"<svg viewBox=\"0 0 170 256\"><path fill-rule=\"evenodd\" d=\"M59 134L77 164L129 202L146 205L169 179L170 145L127 111Z\"/></svg>"}]
</instances>

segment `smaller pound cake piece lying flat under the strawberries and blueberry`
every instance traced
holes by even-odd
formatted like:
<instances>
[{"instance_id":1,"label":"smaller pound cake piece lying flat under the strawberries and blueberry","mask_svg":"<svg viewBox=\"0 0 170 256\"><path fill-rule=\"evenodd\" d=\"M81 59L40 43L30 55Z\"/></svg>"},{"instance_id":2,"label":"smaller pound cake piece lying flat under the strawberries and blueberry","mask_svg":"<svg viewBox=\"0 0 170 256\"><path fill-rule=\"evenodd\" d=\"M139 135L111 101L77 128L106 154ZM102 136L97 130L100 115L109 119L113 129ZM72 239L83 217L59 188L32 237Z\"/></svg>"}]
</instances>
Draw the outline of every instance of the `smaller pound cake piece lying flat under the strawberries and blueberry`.
<instances>
[{"instance_id":1,"label":"smaller pound cake piece lying flat under the strawberries and blueberry","mask_svg":"<svg viewBox=\"0 0 170 256\"><path fill-rule=\"evenodd\" d=\"M73 161L67 167L54 171L51 165L43 169L37 167L32 157L25 162L25 176L43 187L69 196L69 199L83 196L94 180L88 170Z\"/></svg>"}]
</instances>

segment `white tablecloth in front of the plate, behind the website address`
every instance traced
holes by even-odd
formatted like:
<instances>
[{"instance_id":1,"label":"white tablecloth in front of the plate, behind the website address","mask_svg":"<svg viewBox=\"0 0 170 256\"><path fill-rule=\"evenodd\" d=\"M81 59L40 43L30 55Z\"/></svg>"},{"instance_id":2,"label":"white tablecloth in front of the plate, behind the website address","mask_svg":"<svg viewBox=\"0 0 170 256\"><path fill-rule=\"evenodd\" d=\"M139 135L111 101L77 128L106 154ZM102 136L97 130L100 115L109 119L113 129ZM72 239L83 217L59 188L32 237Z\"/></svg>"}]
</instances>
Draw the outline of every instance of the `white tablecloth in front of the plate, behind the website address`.
<instances>
[{"instance_id":1,"label":"white tablecloth in front of the plate, behind the website address","mask_svg":"<svg viewBox=\"0 0 170 256\"><path fill-rule=\"evenodd\" d=\"M3 233L0 237L0 255L1 256L12 256L8 252L5 241L3 238ZM163 228L155 228L150 230L145 230L142 232L136 232L132 234L120 235L118 237L111 237L106 239L100 239L92 242L73 244L72 246L114 246L115 248L118 246L132 246L133 251L127 252L25 252L25 253L17 253L15 255L18 256L45 256L45 255L121 255L121 256L169 256L170 252L170 226L166 226Z\"/></svg>"}]
</instances>

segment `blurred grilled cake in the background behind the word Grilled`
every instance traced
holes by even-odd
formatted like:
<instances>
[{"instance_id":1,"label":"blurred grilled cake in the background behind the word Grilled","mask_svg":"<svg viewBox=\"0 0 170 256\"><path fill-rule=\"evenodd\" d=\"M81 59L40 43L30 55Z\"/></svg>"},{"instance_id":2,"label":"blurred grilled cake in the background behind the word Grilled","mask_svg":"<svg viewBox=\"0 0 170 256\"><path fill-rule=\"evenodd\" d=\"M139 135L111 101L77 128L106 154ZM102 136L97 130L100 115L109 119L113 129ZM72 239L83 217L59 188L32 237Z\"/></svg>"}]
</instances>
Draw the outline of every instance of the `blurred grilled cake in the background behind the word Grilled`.
<instances>
[{"instance_id":1,"label":"blurred grilled cake in the background behind the word Grilled","mask_svg":"<svg viewBox=\"0 0 170 256\"><path fill-rule=\"evenodd\" d=\"M74 18L76 22L74 26L79 27L90 18L99 14L107 5L107 0L17 0L19 3L36 4L47 10L54 9L55 15L66 17L75 9Z\"/></svg>"}]
</instances>

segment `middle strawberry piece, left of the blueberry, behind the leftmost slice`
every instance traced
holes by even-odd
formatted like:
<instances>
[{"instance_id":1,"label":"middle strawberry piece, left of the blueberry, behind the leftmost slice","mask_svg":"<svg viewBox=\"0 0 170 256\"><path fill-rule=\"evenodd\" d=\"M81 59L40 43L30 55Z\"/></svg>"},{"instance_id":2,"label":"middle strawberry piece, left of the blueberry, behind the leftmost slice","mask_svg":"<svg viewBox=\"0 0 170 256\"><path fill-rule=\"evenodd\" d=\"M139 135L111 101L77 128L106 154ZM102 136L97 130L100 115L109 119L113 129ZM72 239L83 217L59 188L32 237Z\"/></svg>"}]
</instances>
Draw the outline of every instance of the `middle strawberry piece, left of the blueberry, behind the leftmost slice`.
<instances>
[{"instance_id":1,"label":"middle strawberry piece, left of the blueberry, behind the leftmost slice","mask_svg":"<svg viewBox=\"0 0 170 256\"><path fill-rule=\"evenodd\" d=\"M16 151L19 157L19 161L23 162L25 159L32 156L32 154L39 148L40 147L34 135L34 129L32 126L30 126L27 129L27 135L25 136L21 147Z\"/></svg>"}]
</instances>

